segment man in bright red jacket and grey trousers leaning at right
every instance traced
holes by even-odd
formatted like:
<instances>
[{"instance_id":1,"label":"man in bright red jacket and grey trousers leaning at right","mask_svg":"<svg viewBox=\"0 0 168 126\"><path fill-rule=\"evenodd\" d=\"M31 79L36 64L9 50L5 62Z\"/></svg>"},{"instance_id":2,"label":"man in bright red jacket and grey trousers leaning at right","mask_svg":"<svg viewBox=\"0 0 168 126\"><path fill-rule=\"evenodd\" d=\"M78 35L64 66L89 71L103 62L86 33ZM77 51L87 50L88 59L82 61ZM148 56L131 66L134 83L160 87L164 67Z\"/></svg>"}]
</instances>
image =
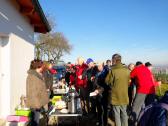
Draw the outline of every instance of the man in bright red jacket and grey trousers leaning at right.
<instances>
[{"instance_id":1,"label":"man in bright red jacket and grey trousers leaning at right","mask_svg":"<svg viewBox=\"0 0 168 126\"><path fill-rule=\"evenodd\" d=\"M132 106L132 115L136 121L142 106L154 102L157 83L153 80L151 71L142 63L133 69L130 76L137 86L137 94Z\"/></svg>"}]
</instances>

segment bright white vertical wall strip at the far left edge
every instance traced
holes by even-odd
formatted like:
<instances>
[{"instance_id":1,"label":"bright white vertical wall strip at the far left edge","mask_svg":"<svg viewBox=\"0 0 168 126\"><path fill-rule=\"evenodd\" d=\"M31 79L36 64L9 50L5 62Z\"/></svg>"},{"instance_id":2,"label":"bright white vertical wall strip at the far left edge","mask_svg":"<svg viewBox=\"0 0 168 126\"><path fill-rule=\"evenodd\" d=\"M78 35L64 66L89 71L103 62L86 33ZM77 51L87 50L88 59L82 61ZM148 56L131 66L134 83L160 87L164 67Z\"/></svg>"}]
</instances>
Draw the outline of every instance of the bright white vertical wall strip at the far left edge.
<instances>
[{"instance_id":1,"label":"bright white vertical wall strip at the far left edge","mask_svg":"<svg viewBox=\"0 0 168 126\"><path fill-rule=\"evenodd\" d=\"M10 42L0 37L0 117L10 113L10 104Z\"/></svg>"}]
</instances>

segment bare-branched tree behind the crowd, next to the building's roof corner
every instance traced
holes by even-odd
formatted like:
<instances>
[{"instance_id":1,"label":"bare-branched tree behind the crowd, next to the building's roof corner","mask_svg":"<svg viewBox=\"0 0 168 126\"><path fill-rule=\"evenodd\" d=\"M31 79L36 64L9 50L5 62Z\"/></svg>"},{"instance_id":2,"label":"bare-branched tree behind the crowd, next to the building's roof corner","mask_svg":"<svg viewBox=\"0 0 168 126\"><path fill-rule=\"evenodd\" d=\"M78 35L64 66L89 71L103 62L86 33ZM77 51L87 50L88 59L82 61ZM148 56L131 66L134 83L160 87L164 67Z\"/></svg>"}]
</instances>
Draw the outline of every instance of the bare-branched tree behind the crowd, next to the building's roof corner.
<instances>
[{"instance_id":1,"label":"bare-branched tree behind the crowd, next to the building's roof corner","mask_svg":"<svg viewBox=\"0 0 168 126\"><path fill-rule=\"evenodd\" d=\"M63 33L40 34L36 44L36 57L47 56L57 63L64 54L70 54L72 45L65 38Z\"/></svg>"}]
</instances>

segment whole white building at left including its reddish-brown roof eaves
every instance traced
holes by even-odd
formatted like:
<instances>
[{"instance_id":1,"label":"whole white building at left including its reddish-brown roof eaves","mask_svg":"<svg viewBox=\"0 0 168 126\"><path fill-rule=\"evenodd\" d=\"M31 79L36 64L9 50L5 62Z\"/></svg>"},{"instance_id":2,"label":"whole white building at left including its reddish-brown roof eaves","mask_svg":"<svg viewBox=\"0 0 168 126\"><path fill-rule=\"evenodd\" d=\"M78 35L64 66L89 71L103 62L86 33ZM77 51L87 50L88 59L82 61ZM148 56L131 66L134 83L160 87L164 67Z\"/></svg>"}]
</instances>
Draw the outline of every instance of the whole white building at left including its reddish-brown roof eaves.
<instances>
[{"instance_id":1,"label":"whole white building at left including its reddish-brown roof eaves","mask_svg":"<svg viewBox=\"0 0 168 126\"><path fill-rule=\"evenodd\" d=\"M20 96L26 94L34 32L48 31L38 0L0 0L0 118L14 114Z\"/></svg>"}]
</instances>

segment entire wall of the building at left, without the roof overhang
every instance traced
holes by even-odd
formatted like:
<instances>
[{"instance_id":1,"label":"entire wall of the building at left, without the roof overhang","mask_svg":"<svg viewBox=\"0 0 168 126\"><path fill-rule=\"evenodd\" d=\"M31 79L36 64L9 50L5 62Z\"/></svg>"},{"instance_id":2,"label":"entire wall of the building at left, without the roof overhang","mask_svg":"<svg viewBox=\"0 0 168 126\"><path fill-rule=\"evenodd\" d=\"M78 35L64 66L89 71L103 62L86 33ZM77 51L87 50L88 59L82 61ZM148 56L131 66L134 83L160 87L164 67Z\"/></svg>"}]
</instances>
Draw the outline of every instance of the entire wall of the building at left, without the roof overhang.
<instances>
[{"instance_id":1,"label":"entire wall of the building at left, without the roof overhang","mask_svg":"<svg viewBox=\"0 0 168 126\"><path fill-rule=\"evenodd\" d=\"M9 37L9 41L6 41L9 45L6 48L0 48L0 51L5 49L3 54L0 53L0 68L9 69L9 74L5 76L7 82L0 81L0 90L9 97L0 93L0 98L5 97L8 102L8 104L1 102L1 99L0 117L14 114L14 108L19 104L20 96L26 94L27 70L30 61L34 58L34 29L29 20L19 13L14 0L0 0L0 38L4 35ZM6 112L2 112L2 109Z\"/></svg>"}]
</instances>

